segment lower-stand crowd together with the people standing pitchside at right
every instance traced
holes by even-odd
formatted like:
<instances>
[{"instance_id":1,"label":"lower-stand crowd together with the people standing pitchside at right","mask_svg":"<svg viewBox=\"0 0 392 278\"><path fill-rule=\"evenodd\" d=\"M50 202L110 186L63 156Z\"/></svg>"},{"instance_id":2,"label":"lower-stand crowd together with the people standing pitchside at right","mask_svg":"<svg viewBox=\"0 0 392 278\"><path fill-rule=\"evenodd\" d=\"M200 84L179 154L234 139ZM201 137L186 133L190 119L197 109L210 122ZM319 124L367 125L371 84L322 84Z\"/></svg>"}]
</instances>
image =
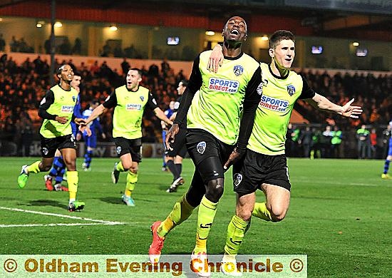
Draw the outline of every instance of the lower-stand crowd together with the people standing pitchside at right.
<instances>
[{"instance_id":1,"label":"lower-stand crowd together with the people standing pitchside at right","mask_svg":"<svg viewBox=\"0 0 392 278\"><path fill-rule=\"evenodd\" d=\"M91 67L81 63L74 65L72 59L56 61L56 67L63 63L70 64L74 71L81 74L81 106L86 108L93 99L103 102L114 88L125 82L125 73L132 66L123 58L121 71L113 70L108 64L96 61ZM167 60L160 65L143 66L142 85L150 89L161 109L166 110L170 101L177 98L177 85L186 76L182 71L175 72ZM391 119L392 78L388 75L373 76L355 73L337 72L333 76L326 71L301 72L314 91L321 93L334 103L344 105L355 98L356 105L363 107L359 119L346 120L338 115L329 115L309 107L304 101L298 101L295 109L303 116L303 123L294 123L287 134L287 154L296 157L311 158L381 158L386 152L386 140L383 131ZM38 117L38 105L51 88L49 83L48 61L37 56L21 64L13 61L6 54L0 58L0 136L1 140L14 142L18 146L18 155L29 155L29 145L38 139L41 119ZM101 117L103 131L110 141L112 130L111 111ZM359 144L357 130L364 127L369 131L366 138L366 150L353 153L353 144ZM337 130L339 143L332 138ZM376 136L371 141L371 134ZM358 140L358 141L357 141ZM160 120L154 113L146 110L143 118L143 141L146 143L162 142ZM344 147L346 145L346 148ZM357 149L356 147L354 149Z\"/></svg>"}]
</instances>

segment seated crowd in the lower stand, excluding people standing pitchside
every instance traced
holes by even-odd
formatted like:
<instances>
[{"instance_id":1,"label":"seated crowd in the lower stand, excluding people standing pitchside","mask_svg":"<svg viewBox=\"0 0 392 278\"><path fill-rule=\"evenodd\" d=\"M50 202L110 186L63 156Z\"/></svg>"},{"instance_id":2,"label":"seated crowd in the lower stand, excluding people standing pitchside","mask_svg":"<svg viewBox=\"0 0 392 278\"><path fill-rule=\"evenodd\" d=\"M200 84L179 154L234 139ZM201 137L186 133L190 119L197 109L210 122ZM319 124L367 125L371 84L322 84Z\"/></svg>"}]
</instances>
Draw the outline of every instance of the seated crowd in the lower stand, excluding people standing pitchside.
<instances>
[{"instance_id":1,"label":"seated crowd in the lower stand, excluding people standing pitchside","mask_svg":"<svg viewBox=\"0 0 392 278\"><path fill-rule=\"evenodd\" d=\"M93 99L103 102L114 88L123 83L124 72L131 67L124 58L120 65L121 72L110 68L105 61L100 65L96 61L88 67L85 63L76 66L70 59L56 61L55 68L63 63L70 64L82 76L82 108ZM48 88L53 85L49 83L49 68L48 61L41 59L39 55L33 61L27 58L21 64L17 64L7 54L0 58L0 139L14 141L20 146L18 155L29 155L29 148L23 147L29 145L33 138L38 138L36 130L41 119L38 117L37 108ZM159 107L166 110L170 101L175 101L177 98L178 83L187 76L184 76L182 71L175 73L166 60L161 65L143 66L141 70L143 71L141 84L150 88ZM355 98L355 103L363 108L359 119L345 120L328 113L315 113L309 104L299 101L295 109L309 120L309 123L322 125L319 131L322 132L325 125L337 125L346 134L348 130L354 130L355 133L361 125L383 127L391 120L391 75L376 77L371 73L367 75L355 73L351 76L343 71L334 76L326 71L324 73L304 71L303 74L314 91L323 94L334 103L342 105ZM160 142L162 140L160 120L152 112L146 111L146 113L143 120L143 140L150 143ZM101 117L101 123L107 135L106 140L111 140L110 130L113 127L110 111ZM382 130L378 131L381 135Z\"/></svg>"}]
</instances>

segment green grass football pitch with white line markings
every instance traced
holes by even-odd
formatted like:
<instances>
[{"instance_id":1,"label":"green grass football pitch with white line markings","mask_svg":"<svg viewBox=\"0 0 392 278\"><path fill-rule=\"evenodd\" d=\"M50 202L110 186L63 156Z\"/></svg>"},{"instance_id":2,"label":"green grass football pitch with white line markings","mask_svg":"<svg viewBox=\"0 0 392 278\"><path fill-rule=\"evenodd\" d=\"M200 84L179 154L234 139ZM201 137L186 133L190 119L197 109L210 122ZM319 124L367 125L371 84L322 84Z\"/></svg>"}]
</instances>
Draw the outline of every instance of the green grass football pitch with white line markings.
<instances>
[{"instance_id":1,"label":"green grass football pitch with white line markings","mask_svg":"<svg viewBox=\"0 0 392 278\"><path fill-rule=\"evenodd\" d=\"M91 172L79 171L81 212L68 212L68 192L49 192L43 173L16 183L21 165L34 158L0 158L0 254L148 254L150 225L164 220L186 192L193 165L184 160L182 185L165 190L172 175L162 160L144 159L133 197L121 202L125 174L110 180L115 159L93 158ZM252 218L240 254L306 254L308 277L392 277L392 180L381 180L383 160L289 158L292 199L279 223ZM78 160L81 169L82 160ZM264 200L262 192L257 200ZM226 175L207 247L222 254L234 213L231 170ZM196 212L196 211L195 211ZM190 254L197 213L172 230L163 254ZM245 276L246 277L246 276ZM272 275L273 277L273 275Z\"/></svg>"}]
</instances>

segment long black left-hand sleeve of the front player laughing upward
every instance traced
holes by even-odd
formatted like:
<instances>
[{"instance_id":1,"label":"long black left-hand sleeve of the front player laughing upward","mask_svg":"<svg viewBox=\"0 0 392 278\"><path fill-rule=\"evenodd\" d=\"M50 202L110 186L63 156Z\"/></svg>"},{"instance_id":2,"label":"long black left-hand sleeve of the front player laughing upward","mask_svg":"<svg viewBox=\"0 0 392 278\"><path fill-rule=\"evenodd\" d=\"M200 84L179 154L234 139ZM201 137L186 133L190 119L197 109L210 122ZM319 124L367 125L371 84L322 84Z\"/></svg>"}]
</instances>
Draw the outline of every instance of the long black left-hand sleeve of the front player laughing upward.
<instances>
[{"instance_id":1,"label":"long black left-hand sleeve of the front player laughing upward","mask_svg":"<svg viewBox=\"0 0 392 278\"><path fill-rule=\"evenodd\" d=\"M202 73L199 68L200 64L200 54L193 61L192 73L190 73L190 79L187 88L181 97L181 102L177 110L177 115L175 116L175 120L173 123L177 123L178 125L185 124L185 118L187 117L188 110L190 105L192 104L192 99L195 96L195 93L202 86Z\"/></svg>"}]
</instances>

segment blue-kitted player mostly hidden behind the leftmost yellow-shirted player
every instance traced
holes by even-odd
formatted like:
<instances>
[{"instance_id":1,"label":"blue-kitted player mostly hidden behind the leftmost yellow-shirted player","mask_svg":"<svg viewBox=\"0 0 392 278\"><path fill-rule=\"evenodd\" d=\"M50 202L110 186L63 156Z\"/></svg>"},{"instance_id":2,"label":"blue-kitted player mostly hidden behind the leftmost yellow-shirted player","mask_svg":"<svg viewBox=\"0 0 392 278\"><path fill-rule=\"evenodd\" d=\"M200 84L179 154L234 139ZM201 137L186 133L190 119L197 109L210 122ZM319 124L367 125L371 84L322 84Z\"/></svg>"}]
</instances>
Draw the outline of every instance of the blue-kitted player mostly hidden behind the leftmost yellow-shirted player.
<instances>
[{"instance_id":1,"label":"blue-kitted player mostly hidden behind the leftmost yellow-shirted player","mask_svg":"<svg viewBox=\"0 0 392 278\"><path fill-rule=\"evenodd\" d=\"M79 86L81 85L81 75L79 73L74 73L73 79L71 81L71 87L74 88L78 93L80 92ZM75 108L73 109L73 115L76 118L82 118L81 115L81 101L79 99L79 95L76 101ZM78 125L76 123L71 122L72 133L73 136L76 137L76 133L78 133ZM53 165L48 175L44 175L43 179L45 180L46 189L49 191L68 191L68 188L61 185L63 180L66 180L64 177L64 173L66 173L66 163L64 163L63 157L59 150L56 150L56 154L53 160ZM53 185L53 180L54 185Z\"/></svg>"}]
</instances>

